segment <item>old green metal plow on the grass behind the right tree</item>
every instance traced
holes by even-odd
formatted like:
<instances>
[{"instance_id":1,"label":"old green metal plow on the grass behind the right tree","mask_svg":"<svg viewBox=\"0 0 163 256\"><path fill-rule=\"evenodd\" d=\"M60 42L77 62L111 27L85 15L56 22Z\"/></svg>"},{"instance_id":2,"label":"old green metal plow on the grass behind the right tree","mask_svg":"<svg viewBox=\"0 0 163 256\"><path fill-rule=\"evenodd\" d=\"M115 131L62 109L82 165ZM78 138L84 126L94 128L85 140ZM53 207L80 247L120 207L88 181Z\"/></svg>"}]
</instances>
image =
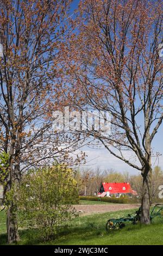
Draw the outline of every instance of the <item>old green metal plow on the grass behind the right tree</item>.
<instances>
[{"instance_id":1,"label":"old green metal plow on the grass behind the right tree","mask_svg":"<svg viewBox=\"0 0 163 256\"><path fill-rule=\"evenodd\" d=\"M116 230L125 227L125 222L132 222L133 224L136 224L137 222L140 221L140 216L141 216L141 207L139 210L133 212L133 214L128 214L126 217L123 218L111 218L106 222L106 230L111 231L111 230ZM156 216L163 216L163 204L156 204L151 212L150 212L150 218L151 221L153 220L154 217Z\"/></svg>"}]
</instances>

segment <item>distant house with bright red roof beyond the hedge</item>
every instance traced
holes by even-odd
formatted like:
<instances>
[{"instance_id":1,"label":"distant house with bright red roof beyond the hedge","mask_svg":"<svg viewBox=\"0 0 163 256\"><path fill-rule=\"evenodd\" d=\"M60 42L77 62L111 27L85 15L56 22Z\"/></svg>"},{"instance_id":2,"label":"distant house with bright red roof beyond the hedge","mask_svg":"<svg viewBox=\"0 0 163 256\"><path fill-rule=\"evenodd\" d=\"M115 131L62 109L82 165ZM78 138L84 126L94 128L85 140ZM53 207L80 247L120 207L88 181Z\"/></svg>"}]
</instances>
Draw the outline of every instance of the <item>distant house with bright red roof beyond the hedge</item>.
<instances>
[{"instance_id":1,"label":"distant house with bright red roof beyond the hedge","mask_svg":"<svg viewBox=\"0 0 163 256\"><path fill-rule=\"evenodd\" d=\"M136 191L132 190L129 182L103 182L99 188L98 197L111 197L113 195L120 197L123 194L127 194L128 196L137 196Z\"/></svg>"}]
</instances>

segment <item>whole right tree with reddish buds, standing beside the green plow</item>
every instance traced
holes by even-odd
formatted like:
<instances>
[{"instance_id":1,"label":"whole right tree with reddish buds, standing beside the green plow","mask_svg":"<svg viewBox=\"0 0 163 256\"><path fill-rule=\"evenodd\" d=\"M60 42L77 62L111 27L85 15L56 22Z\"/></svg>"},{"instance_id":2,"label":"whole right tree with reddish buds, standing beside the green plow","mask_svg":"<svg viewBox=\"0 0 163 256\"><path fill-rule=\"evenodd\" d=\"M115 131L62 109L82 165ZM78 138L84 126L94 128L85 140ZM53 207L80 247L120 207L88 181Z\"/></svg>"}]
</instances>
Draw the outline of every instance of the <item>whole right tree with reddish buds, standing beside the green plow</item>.
<instances>
[{"instance_id":1,"label":"whole right tree with reddish buds, standing beside the green plow","mask_svg":"<svg viewBox=\"0 0 163 256\"><path fill-rule=\"evenodd\" d=\"M162 2L85 0L79 11L62 57L66 96L79 109L111 113L111 135L85 132L141 171L141 222L149 224L152 142L163 119Z\"/></svg>"}]
</instances>

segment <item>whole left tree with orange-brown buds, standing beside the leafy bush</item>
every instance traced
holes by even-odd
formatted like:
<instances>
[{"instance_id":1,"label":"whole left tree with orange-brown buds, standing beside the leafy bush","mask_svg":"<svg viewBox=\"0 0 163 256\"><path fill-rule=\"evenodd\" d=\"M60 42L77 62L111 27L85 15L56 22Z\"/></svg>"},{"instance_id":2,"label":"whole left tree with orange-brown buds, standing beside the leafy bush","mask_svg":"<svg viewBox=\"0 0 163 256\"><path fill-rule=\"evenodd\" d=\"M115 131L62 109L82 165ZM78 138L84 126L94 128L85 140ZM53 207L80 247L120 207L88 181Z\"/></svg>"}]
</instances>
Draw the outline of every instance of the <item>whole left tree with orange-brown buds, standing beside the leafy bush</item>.
<instances>
[{"instance_id":1,"label":"whole left tree with orange-brown buds, standing beside the leafy bush","mask_svg":"<svg viewBox=\"0 0 163 256\"><path fill-rule=\"evenodd\" d=\"M55 89L59 50L71 29L65 26L70 2L0 1L0 148L9 155L5 194L16 190L27 169L57 156L64 161L76 147L73 136L52 129L52 112L64 105ZM18 240L14 199L8 205L7 232L9 243Z\"/></svg>"}]
</instances>

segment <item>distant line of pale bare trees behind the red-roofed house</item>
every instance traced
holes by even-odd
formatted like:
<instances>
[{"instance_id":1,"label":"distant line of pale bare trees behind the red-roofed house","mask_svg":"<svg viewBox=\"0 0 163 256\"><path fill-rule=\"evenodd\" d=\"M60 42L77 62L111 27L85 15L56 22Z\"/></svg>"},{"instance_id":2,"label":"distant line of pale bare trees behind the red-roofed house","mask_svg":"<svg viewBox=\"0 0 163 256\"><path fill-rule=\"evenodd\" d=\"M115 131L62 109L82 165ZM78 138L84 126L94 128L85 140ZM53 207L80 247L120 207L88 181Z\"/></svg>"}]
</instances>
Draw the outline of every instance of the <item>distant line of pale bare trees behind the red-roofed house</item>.
<instances>
[{"instance_id":1,"label":"distant line of pale bare trees behind the red-roofed house","mask_svg":"<svg viewBox=\"0 0 163 256\"><path fill-rule=\"evenodd\" d=\"M129 182L131 188L135 190L141 199L142 197L142 176L130 175L129 172L117 172L114 169L102 170L97 167L78 169L75 174L78 182L78 191L80 196L95 196L98 193L102 182ZM152 175L152 202L158 199L159 186L163 184L163 172L159 166L155 166Z\"/></svg>"}]
</instances>

